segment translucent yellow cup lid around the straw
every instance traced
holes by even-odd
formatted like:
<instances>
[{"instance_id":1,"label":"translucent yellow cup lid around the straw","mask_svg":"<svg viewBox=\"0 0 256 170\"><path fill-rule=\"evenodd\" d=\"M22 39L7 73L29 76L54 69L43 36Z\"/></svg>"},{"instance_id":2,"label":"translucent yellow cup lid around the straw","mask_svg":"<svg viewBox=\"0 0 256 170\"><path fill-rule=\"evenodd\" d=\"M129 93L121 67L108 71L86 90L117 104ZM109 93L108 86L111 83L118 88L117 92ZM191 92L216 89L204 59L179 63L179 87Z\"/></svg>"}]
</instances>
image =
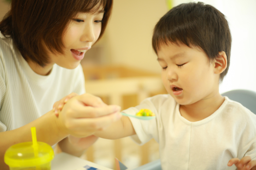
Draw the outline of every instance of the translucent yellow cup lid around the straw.
<instances>
[{"instance_id":1,"label":"translucent yellow cup lid around the straw","mask_svg":"<svg viewBox=\"0 0 256 170\"><path fill-rule=\"evenodd\" d=\"M4 162L10 167L30 167L50 162L54 152L50 145L37 142L38 157L34 155L33 143L24 142L12 145L4 155Z\"/></svg>"}]
</instances>

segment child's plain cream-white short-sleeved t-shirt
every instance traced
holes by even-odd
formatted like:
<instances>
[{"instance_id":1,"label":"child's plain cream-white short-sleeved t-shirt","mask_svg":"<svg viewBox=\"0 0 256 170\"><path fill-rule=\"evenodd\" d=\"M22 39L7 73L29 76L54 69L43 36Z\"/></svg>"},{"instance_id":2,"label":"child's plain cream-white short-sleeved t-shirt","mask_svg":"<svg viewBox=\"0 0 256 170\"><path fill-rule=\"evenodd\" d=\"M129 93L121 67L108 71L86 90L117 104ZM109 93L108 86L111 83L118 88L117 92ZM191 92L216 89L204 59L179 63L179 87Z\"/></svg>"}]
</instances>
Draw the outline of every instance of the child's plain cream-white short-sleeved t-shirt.
<instances>
[{"instance_id":1,"label":"child's plain cream-white short-sleeved t-shirt","mask_svg":"<svg viewBox=\"0 0 256 170\"><path fill-rule=\"evenodd\" d=\"M132 138L141 145L151 138L159 143L163 170L230 170L236 169L227 166L232 158L256 159L256 115L228 97L212 115L196 122L181 116L170 95L147 98L123 112L134 115L143 108L151 109L156 119L130 118L137 133Z\"/></svg>"}]
</instances>

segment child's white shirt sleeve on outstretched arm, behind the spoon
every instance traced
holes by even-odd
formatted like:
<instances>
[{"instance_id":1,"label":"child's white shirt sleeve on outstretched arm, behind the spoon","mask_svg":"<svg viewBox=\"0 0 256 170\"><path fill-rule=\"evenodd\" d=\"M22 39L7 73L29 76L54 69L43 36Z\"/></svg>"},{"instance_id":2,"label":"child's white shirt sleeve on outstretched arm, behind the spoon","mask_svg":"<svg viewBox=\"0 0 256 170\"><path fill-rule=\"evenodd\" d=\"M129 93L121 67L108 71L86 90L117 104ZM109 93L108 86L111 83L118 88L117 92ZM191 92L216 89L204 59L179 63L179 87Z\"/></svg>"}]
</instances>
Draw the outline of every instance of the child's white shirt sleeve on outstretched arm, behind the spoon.
<instances>
[{"instance_id":1,"label":"child's white shirt sleeve on outstretched arm, behind the spoon","mask_svg":"<svg viewBox=\"0 0 256 170\"><path fill-rule=\"evenodd\" d=\"M154 138L158 142L158 128L157 128L157 118L159 116L157 109L155 108L151 98L146 98L138 106L131 107L124 110L124 113L135 115L140 109L150 109L155 113L156 118L150 120L141 120L133 117L129 117L132 122L133 128L136 132L136 135L131 136L131 138L138 143L143 145L148 142L151 138Z\"/></svg>"}]
</instances>

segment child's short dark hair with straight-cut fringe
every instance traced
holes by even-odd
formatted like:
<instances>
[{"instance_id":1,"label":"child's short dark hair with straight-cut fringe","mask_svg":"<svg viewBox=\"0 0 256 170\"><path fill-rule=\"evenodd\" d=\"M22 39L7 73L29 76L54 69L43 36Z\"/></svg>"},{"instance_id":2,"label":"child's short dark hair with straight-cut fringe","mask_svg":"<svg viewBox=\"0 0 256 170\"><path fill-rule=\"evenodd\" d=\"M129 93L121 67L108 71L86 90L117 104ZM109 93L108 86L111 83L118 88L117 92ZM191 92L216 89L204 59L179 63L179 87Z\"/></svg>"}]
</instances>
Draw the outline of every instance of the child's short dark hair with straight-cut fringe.
<instances>
[{"instance_id":1,"label":"child's short dark hair with straight-cut fringe","mask_svg":"<svg viewBox=\"0 0 256 170\"><path fill-rule=\"evenodd\" d=\"M209 61L213 61L220 51L224 51L227 67L220 74L220 81L228 72L231 34L225 16L213 6L190 2L172 8L155 26L152 38L155 53L158 53L161 45L167 45L168 42L201 47Z\"/></svg>"}]
</instances>

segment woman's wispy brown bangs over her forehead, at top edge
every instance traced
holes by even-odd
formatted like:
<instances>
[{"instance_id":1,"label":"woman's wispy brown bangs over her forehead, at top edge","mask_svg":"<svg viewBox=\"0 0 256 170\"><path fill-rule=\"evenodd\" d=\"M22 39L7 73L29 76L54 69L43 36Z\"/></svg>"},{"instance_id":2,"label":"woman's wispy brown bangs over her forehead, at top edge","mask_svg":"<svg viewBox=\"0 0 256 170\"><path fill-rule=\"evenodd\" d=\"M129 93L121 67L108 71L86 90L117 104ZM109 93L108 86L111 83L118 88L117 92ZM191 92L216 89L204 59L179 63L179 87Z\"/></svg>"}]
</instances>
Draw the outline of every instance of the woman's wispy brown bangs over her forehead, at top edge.
<instances>
[{"instance_id":1,"label":"woman's wispy brown bangs over her forehead, at top edge","mask_svg":"<svg viewBox=\"0 0 256 170\"><path fill-rule=\"evenodd\" d=\"M81 0L80 3L76 5L76 7L77 12L86 12L94 14L104 10L106 4L106 0Z\"/></svg>"}]
</instances>

